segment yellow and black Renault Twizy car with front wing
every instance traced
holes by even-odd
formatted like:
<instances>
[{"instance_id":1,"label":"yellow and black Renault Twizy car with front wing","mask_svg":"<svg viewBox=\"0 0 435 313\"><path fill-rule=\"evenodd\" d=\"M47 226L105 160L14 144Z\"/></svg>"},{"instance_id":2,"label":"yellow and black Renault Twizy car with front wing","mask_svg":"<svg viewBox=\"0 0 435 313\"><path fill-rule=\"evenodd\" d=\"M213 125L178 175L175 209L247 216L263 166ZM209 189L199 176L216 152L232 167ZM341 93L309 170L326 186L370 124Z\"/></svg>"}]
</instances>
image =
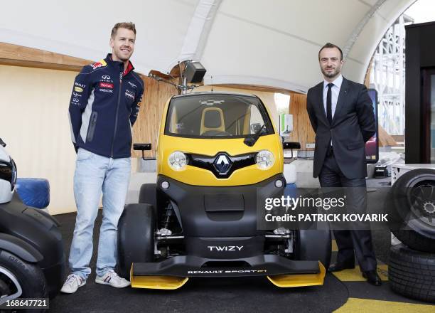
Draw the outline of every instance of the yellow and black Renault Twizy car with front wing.
<instances>
[{"instance_id":1,"label":"yellow and black Renault Twizy car with front wing","mask_svg":"<svg viewBox=\"0 0 435 313\"><path fill-rule=\"evenodd\" d=\"M118 267L131 287L240 276L265 276L279 287L323 284L329 230L259 227L265 198L286 187L283 142L259 97L171 97L156 163L156 184L142 185L139 203L119 221Z\"/></svg>"}]
</instances>

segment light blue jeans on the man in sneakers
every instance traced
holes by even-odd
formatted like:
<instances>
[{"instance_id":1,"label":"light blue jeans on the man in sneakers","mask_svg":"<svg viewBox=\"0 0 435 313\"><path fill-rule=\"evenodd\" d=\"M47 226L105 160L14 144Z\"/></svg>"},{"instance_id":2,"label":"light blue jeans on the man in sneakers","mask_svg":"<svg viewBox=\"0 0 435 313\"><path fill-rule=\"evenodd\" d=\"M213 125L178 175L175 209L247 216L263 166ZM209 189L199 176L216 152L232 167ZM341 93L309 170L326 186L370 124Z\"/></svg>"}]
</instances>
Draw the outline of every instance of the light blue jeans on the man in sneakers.
<instances>
[{"instance_id":1,"label":"light blue jeans on the man in sneakers","mask_svg":"<svg viewBox=\"0 0 435 313\"><path fill-rule=\"evenodd\" d=\"M104 275L117 264L118 221L124 210L130 169L130 158L102 157L81 148L77 152L74 174L77 218L69 263L71 272L84 280L91 272L92 233L101 193L103 219L98 243L97 275Z\"/></svg>"}]
</instances>

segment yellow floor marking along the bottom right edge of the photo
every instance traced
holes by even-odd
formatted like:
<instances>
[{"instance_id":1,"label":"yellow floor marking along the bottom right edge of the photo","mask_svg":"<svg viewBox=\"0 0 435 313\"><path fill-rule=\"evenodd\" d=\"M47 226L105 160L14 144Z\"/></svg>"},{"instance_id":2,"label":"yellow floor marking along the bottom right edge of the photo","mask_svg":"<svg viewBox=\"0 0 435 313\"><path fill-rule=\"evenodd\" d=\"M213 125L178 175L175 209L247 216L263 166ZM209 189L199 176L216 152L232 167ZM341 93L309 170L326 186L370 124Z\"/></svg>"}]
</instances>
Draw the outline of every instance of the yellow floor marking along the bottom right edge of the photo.
<instances>
[{"instance_id":1,"label":"yellow floor marking along the bottom right edge of the photo","mask_svg":"<svg viewBox=\"0 0 435 313\"><path fill-rule=\"evenodd\" d=\"M335 313L434 313L434 305L349 298Z\"/></svg>"}]
</instances>

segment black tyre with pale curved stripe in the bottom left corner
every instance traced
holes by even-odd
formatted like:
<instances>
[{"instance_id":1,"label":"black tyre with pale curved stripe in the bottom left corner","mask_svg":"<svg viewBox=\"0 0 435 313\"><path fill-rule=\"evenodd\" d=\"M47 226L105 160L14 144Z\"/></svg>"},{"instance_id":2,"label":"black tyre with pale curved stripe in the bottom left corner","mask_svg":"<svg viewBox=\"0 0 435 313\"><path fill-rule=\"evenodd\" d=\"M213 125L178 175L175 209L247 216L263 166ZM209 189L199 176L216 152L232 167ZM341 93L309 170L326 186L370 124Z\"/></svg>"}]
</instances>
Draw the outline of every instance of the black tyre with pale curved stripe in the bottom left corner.
<instances>
[{"instance_id":1,"label":"black tyre with pale curved stripe in the bottom left corner","mask_svg":"<svg viewBox=\"0 0 435 313\"><path fill-rule=\"evenodd\" d=\"M25 262L7 251L0 251L0 304L6 297L48 298L48 288L38 265ZM45 312L45 309L20 312Z\"/></svg>"}]
</instances>

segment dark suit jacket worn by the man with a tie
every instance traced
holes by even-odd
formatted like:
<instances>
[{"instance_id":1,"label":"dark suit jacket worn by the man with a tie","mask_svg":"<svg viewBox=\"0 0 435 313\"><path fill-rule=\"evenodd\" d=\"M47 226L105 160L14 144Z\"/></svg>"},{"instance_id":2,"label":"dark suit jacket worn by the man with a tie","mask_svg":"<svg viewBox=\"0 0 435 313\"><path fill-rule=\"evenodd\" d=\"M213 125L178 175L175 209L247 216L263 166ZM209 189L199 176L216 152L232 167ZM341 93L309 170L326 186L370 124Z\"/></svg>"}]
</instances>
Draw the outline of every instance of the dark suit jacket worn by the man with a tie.
<instances>
[{"instance_id":1,"label":"dark suit jacket worn by the man with a tie","mask_svg":"<svg viewBox=\"0 0 435 313\"><path fill-rule=\"evenodd\" d=\"M310 88L306 110L316 133L313 177L321 173L332 139L334 157L348 179L367 176L365 142L375 134L375 114L365 85L343 78L332 124L323 107L323 82Z\"/></svg>"}]
</instances>

